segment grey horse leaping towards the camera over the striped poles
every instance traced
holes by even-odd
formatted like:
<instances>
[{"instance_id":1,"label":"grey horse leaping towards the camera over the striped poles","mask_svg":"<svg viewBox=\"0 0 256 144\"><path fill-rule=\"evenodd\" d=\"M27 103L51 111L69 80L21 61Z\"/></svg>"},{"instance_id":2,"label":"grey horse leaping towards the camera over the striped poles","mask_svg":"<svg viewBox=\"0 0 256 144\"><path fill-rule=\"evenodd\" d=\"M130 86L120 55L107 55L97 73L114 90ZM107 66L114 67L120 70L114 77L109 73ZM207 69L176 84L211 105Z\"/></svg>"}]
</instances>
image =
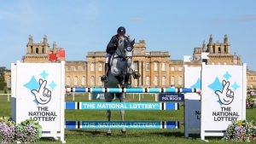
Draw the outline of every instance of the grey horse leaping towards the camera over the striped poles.
<instances>
[{"instance_id":1,"label":"grey horse leaping towards the camera over the striped poles","mask_svg":"<svg viewBox=\"0 0 256 144\"><path fill-rule=\"evenodd\" d=\"M133 45L135 39L120 38L119 45L115 51L112 59L110 60L110 71L108 71L107 81L104 82L104 88L128 88L131 86L131 75L133 78L139 78L140 75L134 71L134 65L132 62ZM105 93L105 101L111 102L114 95L120 102L125 101L125 93ZM125 110L120 112L121 120L125 120ZM111 111L107 110L108 121L111 121ZM121 130L122 134L125 134L126 130ZM107 135L111 135L111 130L108 129Z\"/></svg>"}]
</instances>

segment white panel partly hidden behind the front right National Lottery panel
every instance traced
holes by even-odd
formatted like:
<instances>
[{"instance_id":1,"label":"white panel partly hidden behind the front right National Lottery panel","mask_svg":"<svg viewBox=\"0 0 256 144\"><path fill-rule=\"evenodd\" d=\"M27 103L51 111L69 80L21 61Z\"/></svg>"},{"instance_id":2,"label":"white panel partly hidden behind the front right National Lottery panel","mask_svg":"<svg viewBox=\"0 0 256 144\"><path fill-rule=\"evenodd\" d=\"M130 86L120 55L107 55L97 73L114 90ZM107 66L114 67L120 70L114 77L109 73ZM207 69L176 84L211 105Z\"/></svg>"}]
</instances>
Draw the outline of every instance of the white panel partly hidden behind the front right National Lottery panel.
<instances>
[{"instance_id":1,"label":"white panel partly hidden behind the front right National Lottery panel","mask_svg":"<svg viewBox=\"0 0 256 144\"><path fill-rule=\"evenodd\" d=\"M201 66L184 66L184 87L201 89ZM185 106L185 137L189 134L200 134L201 95L186 93Z\"/></svg>"}]
</instances>

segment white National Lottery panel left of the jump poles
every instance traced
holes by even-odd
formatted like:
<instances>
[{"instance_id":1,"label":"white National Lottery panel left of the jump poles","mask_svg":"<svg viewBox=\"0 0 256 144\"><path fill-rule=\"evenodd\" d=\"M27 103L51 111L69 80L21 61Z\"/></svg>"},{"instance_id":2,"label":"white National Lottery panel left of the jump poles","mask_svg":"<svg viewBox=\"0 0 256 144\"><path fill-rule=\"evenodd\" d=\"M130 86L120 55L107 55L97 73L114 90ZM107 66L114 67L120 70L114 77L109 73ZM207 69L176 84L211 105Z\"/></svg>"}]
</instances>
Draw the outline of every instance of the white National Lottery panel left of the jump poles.
<instances>
[{"instance_id":1,"label":"white National Lottery panel left of the jump poles","mask_svg":"<svg viewBox=\"0 0 256 144\"><path fill-rule=\"evenodd\" d=\"M64 61L18 61L12 64L12 117L16 123L32 119L42 125L43 131L53 134L62 131L65 99L64 66Z\"/></svg>"}]
</instances>

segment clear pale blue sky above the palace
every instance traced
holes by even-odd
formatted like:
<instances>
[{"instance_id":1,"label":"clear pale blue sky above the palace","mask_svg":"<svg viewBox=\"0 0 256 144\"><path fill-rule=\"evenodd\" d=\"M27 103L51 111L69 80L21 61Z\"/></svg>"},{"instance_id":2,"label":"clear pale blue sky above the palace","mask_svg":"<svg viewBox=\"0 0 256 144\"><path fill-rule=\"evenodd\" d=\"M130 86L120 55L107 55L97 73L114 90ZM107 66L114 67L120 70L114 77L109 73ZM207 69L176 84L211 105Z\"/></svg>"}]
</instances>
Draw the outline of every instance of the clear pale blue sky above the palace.
<instances>
[{"instance_id":1,"label":"clear pale blue sky above the palace","mask_svg":"<svg viewBox=\"0 0 256 144\"><path fill-rule=\"evenodd\" d=\"M256 71L255 0L0 0L0 66L26 55L49 38L66 50L66 60L86 60L89 51L105 51L119 26L145 40L147 51L169 51L172 60L193 55L202 41L223 42Z\"/></svg>"}]
</instances>

